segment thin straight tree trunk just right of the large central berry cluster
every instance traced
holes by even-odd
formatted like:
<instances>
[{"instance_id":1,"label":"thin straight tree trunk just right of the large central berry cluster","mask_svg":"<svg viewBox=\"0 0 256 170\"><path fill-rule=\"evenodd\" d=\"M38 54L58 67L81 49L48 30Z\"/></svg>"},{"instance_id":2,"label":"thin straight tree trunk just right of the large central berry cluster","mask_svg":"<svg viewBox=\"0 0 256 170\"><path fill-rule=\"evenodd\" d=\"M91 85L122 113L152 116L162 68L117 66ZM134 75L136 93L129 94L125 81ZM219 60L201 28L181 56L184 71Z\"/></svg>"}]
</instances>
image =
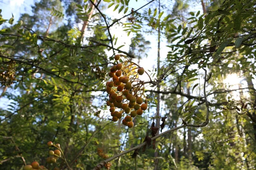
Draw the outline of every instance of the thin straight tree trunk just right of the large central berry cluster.
<instances>
[{"instance_id":1,"label":"thin straight tree trunk just right of the large central berry cluster","mask_svg":"<svg viewBox=\"0 0 256 170\"><path fill-rule=\"evenodd\" d=\"M160 14L160 0L159 0L159 5L158 5L158 14ZM158 26L158 45L157 45L157 76L160 75L160 35L161 35L161 31L160 31L160 26ZM157 86L157 91L160 91L160 85ZM160 94L157 94L157 117L160 117ZM160 128L160 119L156 119L156 126ZM157 132L157 135L159 134L159 130ZM154 157L158 157L158 153L159 150L158 148L156 149L155 153L154 153ZM158 166L158 162L159 159L155 159L155 164L154 164L154 170L157 170L157 166Z\"/></svg>"}]
</instances>

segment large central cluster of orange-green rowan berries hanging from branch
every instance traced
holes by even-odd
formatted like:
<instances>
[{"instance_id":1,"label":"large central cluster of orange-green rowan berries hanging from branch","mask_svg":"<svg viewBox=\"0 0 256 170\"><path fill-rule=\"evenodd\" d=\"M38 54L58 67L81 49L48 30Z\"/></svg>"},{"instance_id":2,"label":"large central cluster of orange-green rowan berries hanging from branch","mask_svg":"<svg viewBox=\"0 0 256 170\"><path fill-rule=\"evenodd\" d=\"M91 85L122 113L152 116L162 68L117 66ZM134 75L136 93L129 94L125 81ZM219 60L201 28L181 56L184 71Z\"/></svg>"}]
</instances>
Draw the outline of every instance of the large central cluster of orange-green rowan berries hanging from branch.
<instances>
[{"instance_id":1,"label":"large central cluster of orange-green rowan berries hanging from branch","mask_svg":"<svg viewBox=\"0 0 256 170\"><path fill-rule=\"evenodd\" d=\"M119 61L120 57L124 56L118 54L115 60ZM126 114L122 124L131 128L134 126L133 118L142 115L147 109L144 84L139 79L144 72L142 67L128 59L110 69L108 76L112 78L112 81L106 83L106 91L109 94L106 104L110 107L113 122L117 122Z\"/></svg>"}]
</instances>

